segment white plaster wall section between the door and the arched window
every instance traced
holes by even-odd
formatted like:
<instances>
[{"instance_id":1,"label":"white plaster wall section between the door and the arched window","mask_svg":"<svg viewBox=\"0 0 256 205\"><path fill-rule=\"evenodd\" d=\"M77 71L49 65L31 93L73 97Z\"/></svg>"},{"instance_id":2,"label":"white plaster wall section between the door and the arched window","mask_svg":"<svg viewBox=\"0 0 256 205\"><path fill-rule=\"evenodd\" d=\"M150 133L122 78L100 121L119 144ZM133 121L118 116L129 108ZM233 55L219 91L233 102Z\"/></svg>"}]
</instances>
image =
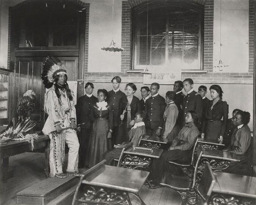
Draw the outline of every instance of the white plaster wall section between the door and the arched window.
<instances>
[{"instance_id":1,"label":"white plaster wall section between the door and the arched window","mask_svg":"<svg viewBox=\"0 0 256 205\"><path fill-rule=\"evenodd\" d=\"M121 47L122 0L114 0L114 21L112 0L93 0L89 11L89 61L88 72L120 72L121 52L101 50L113 39Z\"/></svg>"}]
</instances>

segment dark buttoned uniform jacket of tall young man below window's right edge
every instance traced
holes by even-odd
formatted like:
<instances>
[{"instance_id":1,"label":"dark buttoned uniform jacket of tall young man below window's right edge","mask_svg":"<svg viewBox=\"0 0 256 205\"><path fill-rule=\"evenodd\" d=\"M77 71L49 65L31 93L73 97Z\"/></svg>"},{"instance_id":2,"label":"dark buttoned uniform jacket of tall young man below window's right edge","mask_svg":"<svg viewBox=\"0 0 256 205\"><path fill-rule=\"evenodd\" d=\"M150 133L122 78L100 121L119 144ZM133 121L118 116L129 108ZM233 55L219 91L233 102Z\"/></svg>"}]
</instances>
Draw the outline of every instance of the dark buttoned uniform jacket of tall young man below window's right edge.
<instances>
[{"instance_id":1,"label":"dark buttoned uniform jacket of tall young man below window's right edge","mask_svg":"<svg viewBox=\"0 0 256 205\"><path fill-rule=\"evenodd\" d=\"M190 94L187 94L187 96L183 99L183 113L184 113L184 120L185 116L188 111L193 110L196 111L199 115L199 122L202 121L203 116L203 99L200 96L200 94L196 91L190 92Z\"/></svg>"}]
</instances>

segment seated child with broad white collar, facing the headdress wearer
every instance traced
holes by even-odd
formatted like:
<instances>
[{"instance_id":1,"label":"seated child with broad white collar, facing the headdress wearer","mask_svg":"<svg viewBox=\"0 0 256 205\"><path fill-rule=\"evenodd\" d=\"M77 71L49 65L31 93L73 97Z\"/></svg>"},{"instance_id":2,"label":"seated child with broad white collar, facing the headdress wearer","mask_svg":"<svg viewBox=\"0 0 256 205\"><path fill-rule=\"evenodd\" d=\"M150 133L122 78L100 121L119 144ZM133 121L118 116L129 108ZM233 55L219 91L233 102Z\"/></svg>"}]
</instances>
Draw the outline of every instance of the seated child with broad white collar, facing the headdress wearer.
<instances>
[{"instance_id":1,"label":"seated child with broad white collar, facing the headdress wearer","mask_svg":"<svg viewBox=\"0 0 256 205\"><path fill-rule=\"evenodd\" d=\"M106 160L106 165L111 165L113 159L118 158L122 152L122 149L125 146L129 146L130 143L133 143L134 146L138 146L139 138L146 134L143 115L143 113L136 113L136 117L134 118L135 124L128 132L128 137L131 142L122 142L121 144L114 145L114 149L105 152L103 159Z\"/></svg>"}]
</instances>

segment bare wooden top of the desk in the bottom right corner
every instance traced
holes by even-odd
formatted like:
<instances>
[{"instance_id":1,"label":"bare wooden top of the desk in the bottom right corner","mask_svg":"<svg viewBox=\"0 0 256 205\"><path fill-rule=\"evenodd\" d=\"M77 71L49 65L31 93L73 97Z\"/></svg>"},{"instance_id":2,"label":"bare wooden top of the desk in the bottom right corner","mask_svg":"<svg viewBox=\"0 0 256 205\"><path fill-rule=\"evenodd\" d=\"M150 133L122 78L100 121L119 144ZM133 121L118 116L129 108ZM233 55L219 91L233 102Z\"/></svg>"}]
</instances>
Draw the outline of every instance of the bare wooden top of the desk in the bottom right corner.
<instances>
[{"instance_id":1,"label":"bare wooden top of the desk in the bottom right corner","mask_svg":"<svg viewBox=\"0 0 256 205\"><path fill-rule=\"evenodd\" d=\"M223 172L214 172L214 175L217 179L213 187L215 193L256 198L256 177Z\"/></svg>"}]
</instances>

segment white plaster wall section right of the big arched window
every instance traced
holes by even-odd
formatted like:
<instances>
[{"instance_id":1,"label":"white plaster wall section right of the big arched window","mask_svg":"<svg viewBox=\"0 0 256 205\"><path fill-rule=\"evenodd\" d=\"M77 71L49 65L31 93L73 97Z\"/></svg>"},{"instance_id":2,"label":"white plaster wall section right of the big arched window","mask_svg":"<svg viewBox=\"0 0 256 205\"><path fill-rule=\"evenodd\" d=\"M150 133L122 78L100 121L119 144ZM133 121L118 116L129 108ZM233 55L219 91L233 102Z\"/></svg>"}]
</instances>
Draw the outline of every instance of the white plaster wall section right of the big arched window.
<instances>
[{"instance_id":1,"label":"white plaster wall section right of the big arched window","mask_svg":"<svg viewBox=\"0 0 256 205\"><path fill-rule=\"evenodd\" d=\"M220 58L228 65L223 71L214 68L214 72L248 72L248 12L249 0L214 0L213 65L218 65Z\"/></svg>"}]
</instances>

